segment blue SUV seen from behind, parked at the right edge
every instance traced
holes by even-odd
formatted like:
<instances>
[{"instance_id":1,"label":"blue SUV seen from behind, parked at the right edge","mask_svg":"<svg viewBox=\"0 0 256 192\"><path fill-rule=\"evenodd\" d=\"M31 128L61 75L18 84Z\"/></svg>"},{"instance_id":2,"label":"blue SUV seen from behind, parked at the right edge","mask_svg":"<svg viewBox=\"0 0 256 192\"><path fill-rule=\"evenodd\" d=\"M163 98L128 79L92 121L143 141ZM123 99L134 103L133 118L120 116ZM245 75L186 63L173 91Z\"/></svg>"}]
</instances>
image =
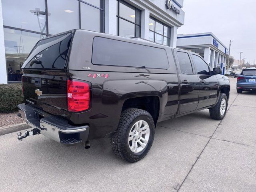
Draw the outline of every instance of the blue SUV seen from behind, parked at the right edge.
<instances>
[{"instance_id":1,"label":"blue SUV seen from behind, parked at the right edge","mask_svg":"<svg viewBox=\"0 0 256 192\"><path fill-rule=\"evenodd\" d=\"M256 68L246 68L242 70L242 73L237 78L236 91L242 93L244 90L252 91L256 90Z\"/></svg>"}]
</instances>

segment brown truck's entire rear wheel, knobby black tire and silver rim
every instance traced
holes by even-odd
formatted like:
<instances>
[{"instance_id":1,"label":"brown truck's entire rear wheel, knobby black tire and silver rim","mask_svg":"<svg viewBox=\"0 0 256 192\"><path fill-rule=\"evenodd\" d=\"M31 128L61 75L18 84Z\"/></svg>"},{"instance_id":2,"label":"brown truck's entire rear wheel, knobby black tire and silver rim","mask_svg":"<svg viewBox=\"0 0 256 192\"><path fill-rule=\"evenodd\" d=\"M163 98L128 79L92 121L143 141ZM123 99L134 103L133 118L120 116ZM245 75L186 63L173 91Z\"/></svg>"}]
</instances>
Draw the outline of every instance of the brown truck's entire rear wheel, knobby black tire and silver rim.
<instances>
[{"instance_id":1,"label":"brown truck's entire rear wheel, knobby black tire and silver rim","mask_svg":"<svg viewBox=\"0 0 256 192\"><path fill-rule=\"evenodd\" d=\"M154 134L154 120L147 111L136 108L124 110L111 140L112 150L123 160L137 162L150 150Z\"/></svg>"}]
</instances>

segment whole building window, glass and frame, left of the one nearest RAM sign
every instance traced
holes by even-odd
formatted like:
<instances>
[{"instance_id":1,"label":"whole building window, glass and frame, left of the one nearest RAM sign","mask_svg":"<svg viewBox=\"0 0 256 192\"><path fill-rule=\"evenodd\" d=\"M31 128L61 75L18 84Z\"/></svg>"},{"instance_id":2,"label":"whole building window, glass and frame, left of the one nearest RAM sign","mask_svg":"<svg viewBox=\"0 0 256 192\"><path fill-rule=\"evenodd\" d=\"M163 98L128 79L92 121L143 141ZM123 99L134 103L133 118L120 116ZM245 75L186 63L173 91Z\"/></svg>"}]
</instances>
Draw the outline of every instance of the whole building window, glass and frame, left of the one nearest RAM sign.
<instances>
[{"instance_id":1,"label":"whole building window, glass and frame, left of the one nearest RAM sign","mask_svg":"<svg viewBox=\"0 0 256 192\"><path fill-rule=\"evenodd\" d=\"M140 37L140 10L117 0L117 31L122 37Z\"/></svg>"}]
</instances>

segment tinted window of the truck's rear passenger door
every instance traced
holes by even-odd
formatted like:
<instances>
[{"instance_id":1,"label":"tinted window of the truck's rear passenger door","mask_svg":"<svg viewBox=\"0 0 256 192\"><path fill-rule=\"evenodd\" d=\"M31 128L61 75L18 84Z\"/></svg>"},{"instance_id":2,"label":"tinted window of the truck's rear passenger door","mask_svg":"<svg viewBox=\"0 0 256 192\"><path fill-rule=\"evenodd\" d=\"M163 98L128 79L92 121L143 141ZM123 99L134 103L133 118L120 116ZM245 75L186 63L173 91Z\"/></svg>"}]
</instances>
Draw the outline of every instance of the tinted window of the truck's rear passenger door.
<instances>
[{"instance_id":1,"label":"tinted window of the truck's rear passenger door","mask_svg":"<svg viewBox=\"0 0 256 192\"><path fill-rule=\"evenodd\" d=\"M186 74L193 74L193 69L188 53L178 51L177 56L180 65L180 71Z\"/></svg>"}]
</instances>

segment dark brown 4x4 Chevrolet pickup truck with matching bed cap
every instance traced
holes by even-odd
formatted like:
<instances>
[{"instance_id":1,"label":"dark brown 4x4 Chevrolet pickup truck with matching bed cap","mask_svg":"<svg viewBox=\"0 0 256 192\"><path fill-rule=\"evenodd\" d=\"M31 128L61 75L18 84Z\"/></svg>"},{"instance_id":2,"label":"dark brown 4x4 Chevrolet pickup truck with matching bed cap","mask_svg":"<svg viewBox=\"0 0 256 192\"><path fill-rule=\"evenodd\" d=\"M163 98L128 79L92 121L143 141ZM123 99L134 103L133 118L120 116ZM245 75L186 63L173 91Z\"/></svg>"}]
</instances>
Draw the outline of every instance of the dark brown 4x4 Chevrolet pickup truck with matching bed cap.
<instances>
[{"instance_id":1,"label":"dark brown 4x4 Chevrolet pickup truck with matching bed cap","mask_svg":"<svg viewBox=\"0 0 256 192\"><path fill-rule=\"evenodd\" d=\"M230 95L222 70L196 53L87 30L41 39L22 70L18 115L33 129L19 140L43 134L89 148L110 137L128 162L146 156L158 122L207 108L221 120Z\"/></svg>"}]
</instances>

